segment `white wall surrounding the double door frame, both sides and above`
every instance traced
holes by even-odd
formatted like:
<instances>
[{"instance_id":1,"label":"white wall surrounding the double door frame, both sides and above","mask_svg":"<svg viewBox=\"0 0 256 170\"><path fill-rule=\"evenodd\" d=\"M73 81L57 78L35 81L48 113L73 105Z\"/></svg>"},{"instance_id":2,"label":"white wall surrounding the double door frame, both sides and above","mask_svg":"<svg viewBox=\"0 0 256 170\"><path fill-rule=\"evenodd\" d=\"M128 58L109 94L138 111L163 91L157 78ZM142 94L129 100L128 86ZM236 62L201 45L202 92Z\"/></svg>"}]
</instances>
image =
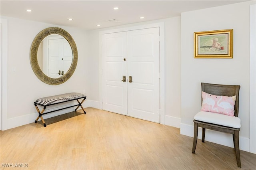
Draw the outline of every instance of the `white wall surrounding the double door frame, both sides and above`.
<instances>
[{"instance_id":1,"label":"white wall surrounding the double door frame, both sides and above","mask_svg":"<svg viewBox=\"0 0 256 170\"><path fill-rule=\"evenodd\" d=\"M89 31L90 99L94 101L95 106L100 105L100 103L97 104L100 100L99 84L101 78L99 77L99 32L160 22L164 22L165 30L165 124L180 127L180 17Z\"/></svg>"}]
</instances>

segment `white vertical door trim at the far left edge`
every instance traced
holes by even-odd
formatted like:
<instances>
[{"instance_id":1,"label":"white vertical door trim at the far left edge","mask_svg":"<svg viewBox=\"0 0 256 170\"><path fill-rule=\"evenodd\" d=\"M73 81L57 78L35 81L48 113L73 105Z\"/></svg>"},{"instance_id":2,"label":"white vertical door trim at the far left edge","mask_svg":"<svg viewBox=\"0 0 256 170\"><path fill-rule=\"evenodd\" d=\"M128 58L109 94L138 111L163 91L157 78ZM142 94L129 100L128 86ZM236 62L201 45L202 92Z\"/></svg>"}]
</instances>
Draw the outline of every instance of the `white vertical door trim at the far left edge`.
<instances>
[{"instance_id":1,"label":"white vertical door trim at the far left edge","mask_svg":"<svg viewBox=\"0 0 256 170\"><path fill-rule=\"evenodd\" d=\"M1 25L2 25L2 53L1 53L1 130L6 130L7 129L7 71L8 71L8 51L7 51L7 44L8 44L8 20L1 18Z\"/></svg>"}]
</instances>

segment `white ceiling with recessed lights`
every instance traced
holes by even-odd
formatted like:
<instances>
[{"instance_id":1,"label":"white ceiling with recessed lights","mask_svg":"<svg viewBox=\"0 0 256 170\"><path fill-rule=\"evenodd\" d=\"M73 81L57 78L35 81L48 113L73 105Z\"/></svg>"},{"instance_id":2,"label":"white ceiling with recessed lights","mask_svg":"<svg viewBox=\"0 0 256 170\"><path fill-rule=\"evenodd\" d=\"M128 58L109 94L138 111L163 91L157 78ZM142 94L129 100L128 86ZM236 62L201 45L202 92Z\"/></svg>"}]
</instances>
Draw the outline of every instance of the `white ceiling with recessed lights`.
<instances>
[{"instance_id":1,"label":"white ceiling with recessed lights","mask_svg":"<svg viewBox=\"0 0 256 170\"><path fill-rule=\"evenodd\" d=\"M0 0L0 14L92 30L170 18L182 12L244 1L247 0ZM32 12L26 12L27 9ZM144 19L140 19L142 16ZM116 21L107 22L113 19Z\"/></svg>"}]
</instances>

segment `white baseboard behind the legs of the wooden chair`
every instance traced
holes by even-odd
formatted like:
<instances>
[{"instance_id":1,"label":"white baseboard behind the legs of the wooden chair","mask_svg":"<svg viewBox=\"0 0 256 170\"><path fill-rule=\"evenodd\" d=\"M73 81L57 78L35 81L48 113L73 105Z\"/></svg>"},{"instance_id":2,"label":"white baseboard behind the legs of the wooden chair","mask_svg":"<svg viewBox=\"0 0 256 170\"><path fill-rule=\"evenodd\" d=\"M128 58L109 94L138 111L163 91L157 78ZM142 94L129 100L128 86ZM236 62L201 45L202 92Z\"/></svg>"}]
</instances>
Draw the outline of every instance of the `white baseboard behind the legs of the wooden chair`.
<instances>
[{"instance_id":1,"label":"white baseboard behind the legs of the wooden chair","mask_svg":"<svg viewBox=\"0 0 256 170\"><path fill-rule=\"evenodd\" d=\"M194 137L194 126L181 123L180 124L180 134ZM200 128L200 127L198 128L198 139L202 139L202 128ZM232 134L206 129L205 140L234 148ZM249 138L245 138L242 136L239 137L240 150L250 152L249 144L250 144Z\"/></svg>"}]
</instances>

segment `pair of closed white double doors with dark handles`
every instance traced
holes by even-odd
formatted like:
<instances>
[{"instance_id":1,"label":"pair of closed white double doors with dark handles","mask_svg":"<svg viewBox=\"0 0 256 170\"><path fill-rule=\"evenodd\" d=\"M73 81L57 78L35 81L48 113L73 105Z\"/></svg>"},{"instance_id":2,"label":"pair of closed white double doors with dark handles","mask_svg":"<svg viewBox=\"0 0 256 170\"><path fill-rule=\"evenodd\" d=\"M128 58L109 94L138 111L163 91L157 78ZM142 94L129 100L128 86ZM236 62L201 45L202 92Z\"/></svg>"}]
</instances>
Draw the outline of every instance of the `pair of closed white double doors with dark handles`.
<instances>
[{"instance_id":1,"label":"pair of closed white double doors with dark handles","mask_svg":"<svg viewBox=\"0 0 256 170\"><path fill-rule=\"evenodd\" d=\"M159 28L102 35L103 110L159 123L159 75Z\"/></svg>"}]
</instances>

